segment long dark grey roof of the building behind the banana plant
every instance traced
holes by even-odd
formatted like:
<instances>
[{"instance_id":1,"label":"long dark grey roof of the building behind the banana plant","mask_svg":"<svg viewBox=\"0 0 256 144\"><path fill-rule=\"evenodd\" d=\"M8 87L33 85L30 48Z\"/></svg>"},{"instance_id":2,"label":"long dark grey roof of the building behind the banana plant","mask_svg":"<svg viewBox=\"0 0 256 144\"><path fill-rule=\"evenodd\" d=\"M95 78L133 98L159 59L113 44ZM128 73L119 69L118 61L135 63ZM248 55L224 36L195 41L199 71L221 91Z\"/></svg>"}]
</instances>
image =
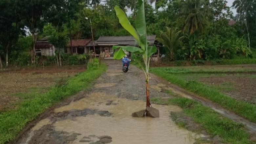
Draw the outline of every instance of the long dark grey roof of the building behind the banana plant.
<instances>
[{"instance_id":1,"label":"long dark grey roof of the building behind the banana plant","mask_svg":"<svg viewBox=\"0 0 256 144\"><path fill-rule=\"evenodd\" d=\"M149 45L153 45L156 39L156 35L148 35L147 40ZM124 45L124 46L138 46L133 36L100 36L96 41L99 46L113 46L113 45Z\"/></svg>"}]
</instances>

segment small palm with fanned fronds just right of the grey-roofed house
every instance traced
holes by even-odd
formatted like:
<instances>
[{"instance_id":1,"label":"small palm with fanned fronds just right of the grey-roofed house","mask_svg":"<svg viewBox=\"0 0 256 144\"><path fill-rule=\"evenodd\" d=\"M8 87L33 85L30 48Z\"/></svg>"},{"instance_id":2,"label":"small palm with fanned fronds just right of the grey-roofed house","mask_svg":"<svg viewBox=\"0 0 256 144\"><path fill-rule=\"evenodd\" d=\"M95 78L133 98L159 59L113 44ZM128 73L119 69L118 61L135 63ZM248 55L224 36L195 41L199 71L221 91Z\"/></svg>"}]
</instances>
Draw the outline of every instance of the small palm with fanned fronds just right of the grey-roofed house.
<instances>
[{"instance_id":1,"label":"small palm with fanned fronds just right of the grey-roofed house","mask_svg":"<svg viewBox=\"0 0 256 144\"><path fill-rule=\"evenodd\" d=\"M170 52L170 60L173 60L173 50L177 48L180 40L183 38L181 32L178 28L167 28L167 31L161 31L160 36L156 39Z\"/></svg>"}]
</instances>

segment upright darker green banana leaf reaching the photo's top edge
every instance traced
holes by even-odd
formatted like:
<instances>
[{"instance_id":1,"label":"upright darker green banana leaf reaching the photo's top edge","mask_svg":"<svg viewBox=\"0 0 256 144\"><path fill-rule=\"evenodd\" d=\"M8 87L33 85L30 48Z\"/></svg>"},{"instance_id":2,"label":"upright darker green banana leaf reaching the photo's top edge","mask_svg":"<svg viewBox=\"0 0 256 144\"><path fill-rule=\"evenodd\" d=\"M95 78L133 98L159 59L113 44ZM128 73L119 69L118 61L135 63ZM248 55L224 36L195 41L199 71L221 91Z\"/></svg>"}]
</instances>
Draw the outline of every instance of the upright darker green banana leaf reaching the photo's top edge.
<instances>
[{"instance_id":1,"label":"upright darker green banana leaf reaching the photo's top edge","mask_svg":"<svg viewBox=\"0 0 256 144\"><path fill-rule=\"evenodd\" d=\"M145 9L144 2L139 0L139 11L135 20L135 27L139 33L140 47L142 50L147 49L147 31L146 31L146 20L145 20Z\"/></svg>"}]
</instances>

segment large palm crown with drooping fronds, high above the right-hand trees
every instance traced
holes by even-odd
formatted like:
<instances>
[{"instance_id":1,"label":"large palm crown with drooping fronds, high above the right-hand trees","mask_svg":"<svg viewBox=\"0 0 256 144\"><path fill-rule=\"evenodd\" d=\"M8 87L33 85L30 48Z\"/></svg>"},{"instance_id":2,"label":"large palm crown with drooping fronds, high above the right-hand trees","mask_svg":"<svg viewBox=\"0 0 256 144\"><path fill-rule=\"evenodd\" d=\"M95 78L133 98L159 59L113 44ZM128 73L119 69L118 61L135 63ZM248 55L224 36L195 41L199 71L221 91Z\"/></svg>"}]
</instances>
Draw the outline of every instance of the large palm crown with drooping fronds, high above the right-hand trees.
<instances>
[{"instance_id":1,"label":"large palm crown with drooping fronds, high above the right-hand trees","mask_svg":"<svg viewBox=\"0 0 256 144\"><path fill-rule=\"evenodd\" d=\"M181 15L183 32L194 33L199 30L203 32L208 25L206 10L209 0L181 0Z\"/></svg>"}]
</instances>

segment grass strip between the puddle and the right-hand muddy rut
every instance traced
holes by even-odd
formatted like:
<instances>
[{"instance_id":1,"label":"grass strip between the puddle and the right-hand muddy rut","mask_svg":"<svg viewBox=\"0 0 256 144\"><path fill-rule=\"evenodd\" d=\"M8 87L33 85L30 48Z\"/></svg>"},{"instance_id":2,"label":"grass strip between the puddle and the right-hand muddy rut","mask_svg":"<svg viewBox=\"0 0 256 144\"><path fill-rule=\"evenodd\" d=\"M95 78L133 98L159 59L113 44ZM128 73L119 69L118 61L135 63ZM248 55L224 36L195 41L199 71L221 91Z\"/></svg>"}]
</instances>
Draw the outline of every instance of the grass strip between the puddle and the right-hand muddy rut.
<instances>
[{"instance_id":1,"label":"grass strip between the puddle and the right-hand muddy rut","mask_svg":"<svg viewBox=\"0 0 256 144\"><path fill-rule=\"evenodd\" d=\"M168 104L175 104L184 110L195 122L201 124L212 137L219 135L224 143L252 144L250 134L245 131L244 125L236 123L209 107L203 106L196 100L176 97L168 100Z\"/></svg>"}]
</instances>

